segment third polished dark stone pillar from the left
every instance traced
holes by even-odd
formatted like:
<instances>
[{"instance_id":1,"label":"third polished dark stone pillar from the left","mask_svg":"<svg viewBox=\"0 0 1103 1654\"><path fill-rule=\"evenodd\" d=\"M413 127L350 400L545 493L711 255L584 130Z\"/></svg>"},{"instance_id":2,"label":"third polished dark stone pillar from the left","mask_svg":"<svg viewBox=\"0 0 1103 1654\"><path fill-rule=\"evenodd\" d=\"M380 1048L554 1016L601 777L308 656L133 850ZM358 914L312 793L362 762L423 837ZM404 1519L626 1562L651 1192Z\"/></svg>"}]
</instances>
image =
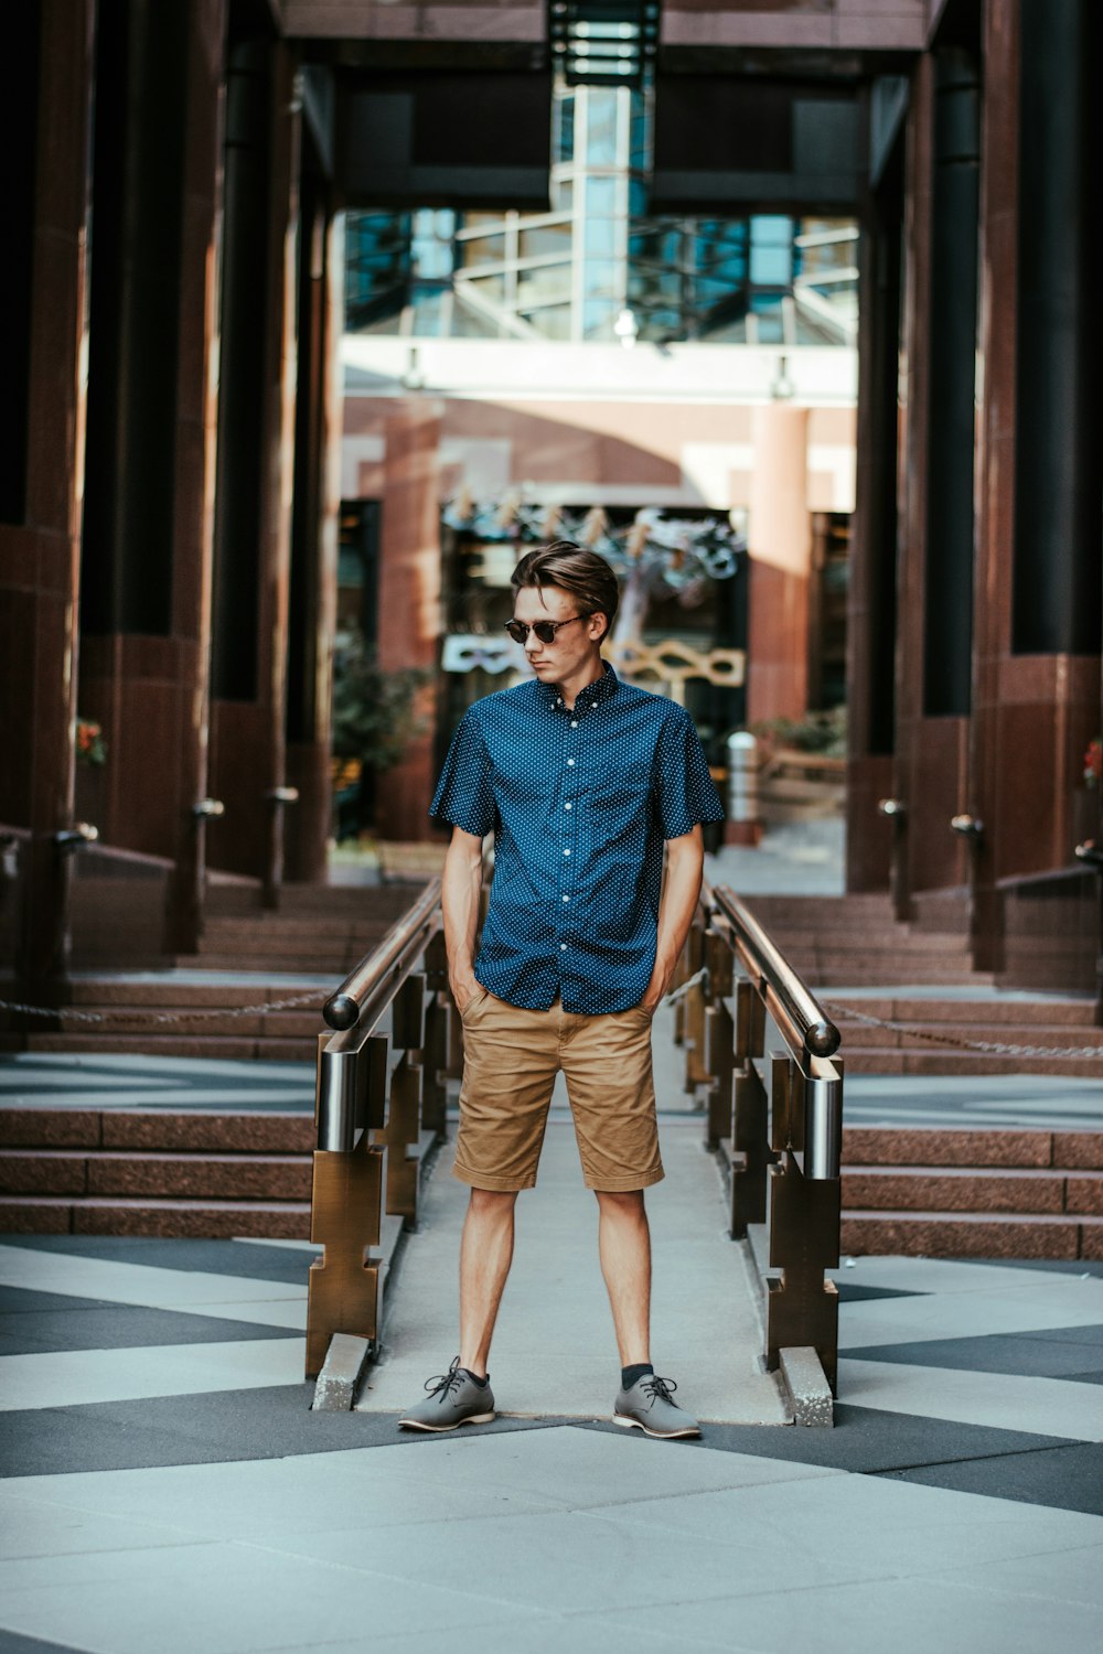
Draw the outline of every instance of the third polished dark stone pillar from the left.
<instances>
[{"instance_id":1,"label":"third polished dark stone pillar from the left","mask_svg":"<svg viewBox=\"0 0 1103 1654\"><path fill-rule=\"evenodd\" d=\"M232 36L215 501L212 865L275 900L286 786L299 114L289 48ZM294 809L294 805L289 805Z\"/></svg>"}]
</instances>

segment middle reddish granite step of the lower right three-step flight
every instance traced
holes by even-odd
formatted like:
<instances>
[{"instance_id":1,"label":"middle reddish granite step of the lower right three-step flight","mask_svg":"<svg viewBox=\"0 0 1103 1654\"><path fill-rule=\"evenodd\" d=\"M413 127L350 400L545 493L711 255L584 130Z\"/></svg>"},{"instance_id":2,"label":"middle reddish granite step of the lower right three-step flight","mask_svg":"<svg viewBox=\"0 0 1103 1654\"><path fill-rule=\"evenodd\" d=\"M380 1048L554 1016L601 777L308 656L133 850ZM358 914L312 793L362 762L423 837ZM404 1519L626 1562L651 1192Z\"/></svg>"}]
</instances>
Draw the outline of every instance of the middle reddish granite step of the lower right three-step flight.
<instances>
[{"instance_id":1,"label":"middle reddish granite step of the lower right three-step flight","mask_svg":"<svg viewBox=\"0 0 1103 1654\"><path fill-rule=\"evenodd\" d=\"M1101 1171L843 1166L843 1209L1103 1216Z\"/></svg>"}]
</instances>

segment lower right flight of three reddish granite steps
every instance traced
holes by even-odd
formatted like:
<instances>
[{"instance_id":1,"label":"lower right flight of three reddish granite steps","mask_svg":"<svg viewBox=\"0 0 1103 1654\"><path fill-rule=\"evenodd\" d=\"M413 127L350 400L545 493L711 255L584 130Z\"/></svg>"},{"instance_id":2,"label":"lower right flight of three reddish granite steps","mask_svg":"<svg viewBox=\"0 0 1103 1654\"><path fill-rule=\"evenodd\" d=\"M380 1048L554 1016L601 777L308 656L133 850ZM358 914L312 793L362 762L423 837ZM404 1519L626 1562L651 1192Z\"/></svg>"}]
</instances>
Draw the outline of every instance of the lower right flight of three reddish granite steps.
<instances>
[{"instance_id":1,"label":"lower right flight of three reddish granite steps","mask_svg":"<svg viewBox=\"0 0 1103 1654\"><path fill-rule=\"evenodd\" d=\"M1103 1130L848 1126L843 1254L1103 1259Z\"/></svg>"}]
</instances>

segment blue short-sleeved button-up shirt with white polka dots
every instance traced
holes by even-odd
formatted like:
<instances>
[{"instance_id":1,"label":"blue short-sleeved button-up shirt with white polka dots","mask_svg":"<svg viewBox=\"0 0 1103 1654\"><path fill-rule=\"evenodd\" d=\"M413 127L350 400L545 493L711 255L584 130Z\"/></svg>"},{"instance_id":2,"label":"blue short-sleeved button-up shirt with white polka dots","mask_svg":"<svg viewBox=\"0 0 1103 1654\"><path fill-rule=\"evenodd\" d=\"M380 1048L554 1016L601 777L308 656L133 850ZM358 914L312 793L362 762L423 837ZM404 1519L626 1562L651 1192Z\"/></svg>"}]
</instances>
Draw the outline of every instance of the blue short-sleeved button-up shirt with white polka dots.
<instances>
[{"instance_id":1,"label":"blue short-sleeved button-up shirt with white polka dots","mask_svg":"<svg viewBox=\"0 0 1103 1654\"><path fill-rule=\"evenodd\" d=\"M478 981L529 1011L556 996L584 1016L638 1006L663 840L723 814L688 713L609 665L571 710L536 680L476 701L430 815L494 834Z\"/></svg>"}]
</instances>

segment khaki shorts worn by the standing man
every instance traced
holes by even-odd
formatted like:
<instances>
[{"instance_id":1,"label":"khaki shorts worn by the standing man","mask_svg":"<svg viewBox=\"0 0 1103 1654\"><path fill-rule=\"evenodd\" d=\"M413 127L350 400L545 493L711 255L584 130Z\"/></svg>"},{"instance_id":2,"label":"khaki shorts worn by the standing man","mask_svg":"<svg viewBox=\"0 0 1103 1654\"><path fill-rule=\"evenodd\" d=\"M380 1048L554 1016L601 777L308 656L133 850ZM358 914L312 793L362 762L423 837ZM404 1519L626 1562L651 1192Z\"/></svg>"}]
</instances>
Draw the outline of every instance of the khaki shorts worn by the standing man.
<instances>
[{"instance_id":1,"label":"khaki shorts worn by the standing man","mask_svg":"<svg viewBox=\"0 0 1103 1654\"><path fill-rule=\"evenodd\" d=\"M562 1068L587 1189L663 1178L652 1078L652 1017L521 1011L481 987L463 1009L463 1085L453 1173L476 1189L531 1189Z\"/></svg>"}]
</instances>

